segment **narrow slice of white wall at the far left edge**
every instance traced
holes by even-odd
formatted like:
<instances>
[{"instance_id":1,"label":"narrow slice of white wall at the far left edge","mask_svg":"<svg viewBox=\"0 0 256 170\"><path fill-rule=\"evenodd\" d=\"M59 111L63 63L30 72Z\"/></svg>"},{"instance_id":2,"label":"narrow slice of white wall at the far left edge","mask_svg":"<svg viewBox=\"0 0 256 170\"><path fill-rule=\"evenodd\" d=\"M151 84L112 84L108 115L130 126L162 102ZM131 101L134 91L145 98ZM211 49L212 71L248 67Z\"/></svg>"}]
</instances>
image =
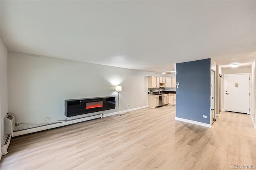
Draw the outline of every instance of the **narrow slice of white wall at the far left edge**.
<instances>
[{"instance_id":1,"label":"narrow slice of white wall at the far left edge","mask_svg":"<svg viewBox=\"0 0 256 170\"><path fill-rule=\"evenodd\" d=\"M1 40L0 55L0 110L1 110L1 144L4 136L4 117L8 113L8 85L7 85L7 49Z\"/></svg>"}]
</instances>

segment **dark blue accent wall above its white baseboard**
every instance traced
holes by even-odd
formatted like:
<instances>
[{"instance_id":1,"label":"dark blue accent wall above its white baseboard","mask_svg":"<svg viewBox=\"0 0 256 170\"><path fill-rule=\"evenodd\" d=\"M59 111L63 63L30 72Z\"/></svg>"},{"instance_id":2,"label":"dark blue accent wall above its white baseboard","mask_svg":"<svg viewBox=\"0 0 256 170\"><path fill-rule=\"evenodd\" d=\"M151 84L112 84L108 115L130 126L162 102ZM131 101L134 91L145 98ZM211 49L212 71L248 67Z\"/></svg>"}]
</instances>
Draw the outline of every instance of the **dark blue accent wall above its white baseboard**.
<instances>
[{"instance_id":1,"label":"dark blue accent wall above its white baseboard","mask_svg":"<svg viewBox=\"0 0 256 170\"><path fill-rule=\"evenodd\" d=\"M177 63L176 71L176 117L210 124L211 60Z\"/></svg>"}]
</instances>

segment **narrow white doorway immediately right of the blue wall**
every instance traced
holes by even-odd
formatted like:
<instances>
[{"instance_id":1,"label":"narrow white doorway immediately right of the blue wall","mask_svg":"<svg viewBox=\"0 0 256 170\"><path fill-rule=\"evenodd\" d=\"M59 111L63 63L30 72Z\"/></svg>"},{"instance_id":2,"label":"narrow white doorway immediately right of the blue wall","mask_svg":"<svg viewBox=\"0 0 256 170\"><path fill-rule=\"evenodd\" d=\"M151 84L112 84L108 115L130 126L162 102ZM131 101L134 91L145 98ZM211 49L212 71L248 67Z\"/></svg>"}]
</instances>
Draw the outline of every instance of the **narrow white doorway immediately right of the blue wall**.
<instances>
[{"instance_id":1,"label":"narrow white doorway immediately right of the blue wall","mask_svg":"<svg viewBox=\"0 0 256 170\"><path fill-rule=\"evenodd\" d=\"M215 71L211 70L211 124L215 121Z\"/></svg>"}]
</instances>

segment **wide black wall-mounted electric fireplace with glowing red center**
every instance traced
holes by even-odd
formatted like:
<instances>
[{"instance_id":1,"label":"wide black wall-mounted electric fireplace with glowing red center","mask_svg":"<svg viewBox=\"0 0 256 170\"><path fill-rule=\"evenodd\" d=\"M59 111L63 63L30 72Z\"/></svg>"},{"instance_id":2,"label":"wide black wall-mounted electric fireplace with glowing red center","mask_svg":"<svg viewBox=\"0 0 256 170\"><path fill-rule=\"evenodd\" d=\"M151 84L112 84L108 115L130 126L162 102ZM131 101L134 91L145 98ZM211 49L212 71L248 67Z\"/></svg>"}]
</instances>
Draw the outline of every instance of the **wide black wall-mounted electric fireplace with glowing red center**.
<instances>
[{"instance_id":1,"label":"wide black wall-mounted electric fireplace with glowing red center","mask_svg":"<svg viewBox=\"0 0 256 170\"><path fill-rule=\"evenodd\" d=\"M116 97L65 100L65 116L71 117L116 108Z\"/></svg>"}]
</instances>

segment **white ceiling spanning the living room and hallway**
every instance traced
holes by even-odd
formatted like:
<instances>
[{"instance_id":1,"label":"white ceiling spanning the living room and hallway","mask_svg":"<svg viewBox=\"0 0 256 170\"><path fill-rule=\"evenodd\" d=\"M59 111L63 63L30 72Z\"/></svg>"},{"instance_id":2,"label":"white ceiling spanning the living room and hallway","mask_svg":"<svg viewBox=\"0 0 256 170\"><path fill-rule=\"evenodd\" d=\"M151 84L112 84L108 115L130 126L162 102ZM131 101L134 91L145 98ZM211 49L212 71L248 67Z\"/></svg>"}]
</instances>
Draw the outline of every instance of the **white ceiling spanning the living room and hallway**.
<instances>
[{"instance_id":1,"label":"white ceiling spanning the living room and hallway","mask_svg":"<svg viewBox=\"0 0 256 170\"><path fill-rule=\"evenodd\" d=\"M8 50L160 72L212 58L250 65L256 1L0 1Z\"/></svg>"}]
</instances>

